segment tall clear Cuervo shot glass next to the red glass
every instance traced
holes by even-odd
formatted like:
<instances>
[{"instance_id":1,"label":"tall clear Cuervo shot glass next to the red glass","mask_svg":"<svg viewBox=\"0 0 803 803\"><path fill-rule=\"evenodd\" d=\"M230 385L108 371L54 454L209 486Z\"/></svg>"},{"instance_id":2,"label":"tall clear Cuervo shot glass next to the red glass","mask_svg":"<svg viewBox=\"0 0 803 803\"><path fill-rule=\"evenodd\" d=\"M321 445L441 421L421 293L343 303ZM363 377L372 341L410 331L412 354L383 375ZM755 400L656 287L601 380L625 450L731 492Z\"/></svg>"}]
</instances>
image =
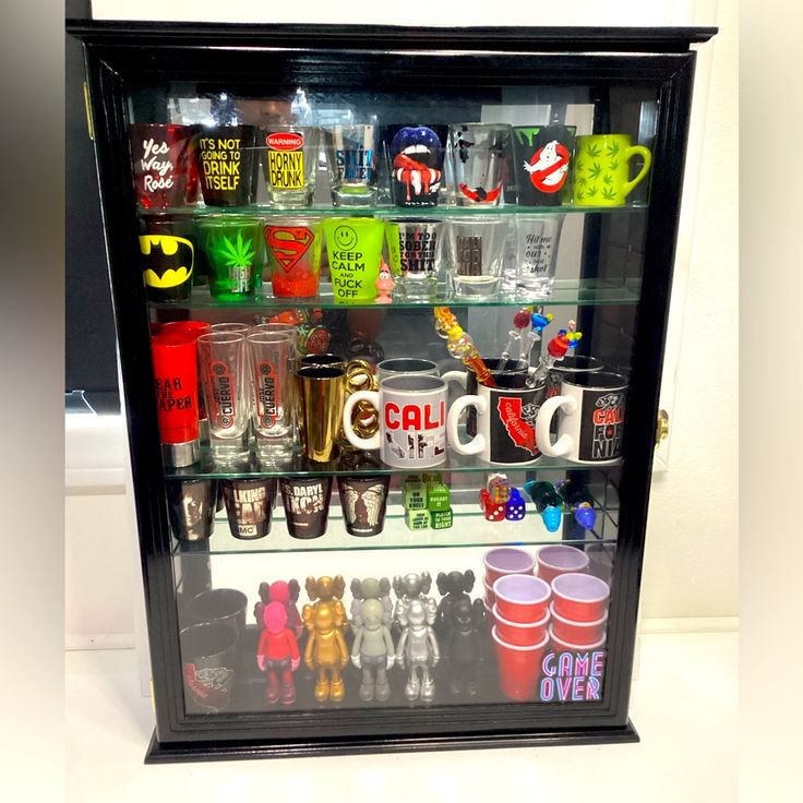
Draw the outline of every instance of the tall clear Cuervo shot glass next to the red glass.
<instances>
[{"instance_id":1,"label":"tall clear Cuervo shot glass next to the red glass","mask_svg":"<svg viewBox=\"0 0 803 803\"><path fill-rule=\"evenodd\" d=\"M249 451L249 380L245 336L237 332L199 335L197 356L215 462L241 460Z\"/></svg>"}]
</instances>

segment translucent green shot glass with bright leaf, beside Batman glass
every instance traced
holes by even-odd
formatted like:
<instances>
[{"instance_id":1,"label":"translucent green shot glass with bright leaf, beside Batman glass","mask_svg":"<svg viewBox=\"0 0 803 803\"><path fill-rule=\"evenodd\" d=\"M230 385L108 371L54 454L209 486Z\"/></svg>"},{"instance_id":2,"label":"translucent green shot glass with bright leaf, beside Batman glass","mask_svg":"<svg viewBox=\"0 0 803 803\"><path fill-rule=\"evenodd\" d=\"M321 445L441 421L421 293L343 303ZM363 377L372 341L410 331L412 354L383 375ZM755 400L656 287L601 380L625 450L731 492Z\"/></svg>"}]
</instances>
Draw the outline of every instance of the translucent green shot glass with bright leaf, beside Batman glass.
<instances>
[{"instance_id":1,"label":"translucent green shot glass with bright leaf, beside Batman glass","mask_svg":"<svg viewBox=\"0 0 803 803\"><path fill-rule=\"evenodd\" d=\"M262 224L241 215L209 215L196 224L209 265L209 292L219 301L253 298L262 281Z\"/></svg>"}]
</instances>

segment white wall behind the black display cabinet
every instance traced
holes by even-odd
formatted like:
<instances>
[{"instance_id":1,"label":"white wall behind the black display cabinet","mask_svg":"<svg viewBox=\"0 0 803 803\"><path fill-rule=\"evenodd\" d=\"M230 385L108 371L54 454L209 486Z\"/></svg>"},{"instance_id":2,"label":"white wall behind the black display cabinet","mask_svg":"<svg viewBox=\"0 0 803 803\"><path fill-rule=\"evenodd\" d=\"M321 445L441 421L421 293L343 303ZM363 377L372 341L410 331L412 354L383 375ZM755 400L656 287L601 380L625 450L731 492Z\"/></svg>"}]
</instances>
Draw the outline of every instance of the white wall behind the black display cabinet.
<instances>
[{"instance_id":1,"label":"white wall behind the black display cabinet","mask_svg":"<svg viewBox=\"0 0 803 803\"><path fill-rule=\"evenodd\" d=\"M194 0L93 3L97 19L442 25L719 25L699 49L684 206L675 265L662 404L670 411L668 470L654 477L642 615L731 616L736 597L736 3L576 0L365 8L308 0L291 7ZM554 4L555 7L558 4ZM421 9L416 13L416 7ZM284 9L284 10L283 10ZM457 11L459 9L459 12ZM119 446L121 448L121 446ZM68 644L133 643L141 622L139 562L121 474L70 470L80 444L68 441ZM84 460L87 458L84 457ZM91 458L89 458L91 459ZM119 469L118 469L119 471ZM105 476L111 477L105 482ZM136 609L135 609L136 607Z\"/></svg>"}]
</instances>

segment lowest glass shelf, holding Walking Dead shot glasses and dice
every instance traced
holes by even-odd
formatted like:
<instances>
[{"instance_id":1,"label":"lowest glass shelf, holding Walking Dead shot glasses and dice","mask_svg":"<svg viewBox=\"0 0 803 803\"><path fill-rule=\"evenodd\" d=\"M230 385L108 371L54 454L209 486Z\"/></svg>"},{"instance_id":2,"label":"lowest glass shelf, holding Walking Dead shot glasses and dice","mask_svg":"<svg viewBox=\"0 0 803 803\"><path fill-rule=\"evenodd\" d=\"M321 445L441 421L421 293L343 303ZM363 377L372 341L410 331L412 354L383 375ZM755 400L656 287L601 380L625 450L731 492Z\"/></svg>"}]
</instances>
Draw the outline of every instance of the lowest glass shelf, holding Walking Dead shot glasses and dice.
<instances>
[{"instance_id":1,"label":"lowest glass shelf, holding Walking Dead shot glasses and dice","mask_svg":"<svg viewBox=\"0 0 803 803\"><path fill-rule=\"evenodd\" d=\"M447 529L410 530L404 522L400 505L394 505L393 513L388 504L385 516L385 528L377 536L360 538L351 536L343 525L340 505L333 501L329 507L328 526L320 538L292 538L285 524L281 502L274 511L271 532L264 538L243 540L229 532L228 522L215 519L215 531L203 541L175 541L175 555L214 555L241 553L275 552L319 552L345 550L400 550L400 549L450 549L466 547L507 547L507 546L546 546L550 543L570 543L583 546L589 543L615 544L616 528L608 511L598 508L597 524L594 530L576 528L576 538L564 538L561 529L549 532L535 506L527 505L527 515L520 522L487 522L480 514L477 504L460 503L452 506L455 524ZM565 514L564 514L565 515ZM568 514L571 517L571 514ZM459 522L459 526L457 523ZM585 537L583 535L585 534Z\"/></svg>"}]
</instances>

